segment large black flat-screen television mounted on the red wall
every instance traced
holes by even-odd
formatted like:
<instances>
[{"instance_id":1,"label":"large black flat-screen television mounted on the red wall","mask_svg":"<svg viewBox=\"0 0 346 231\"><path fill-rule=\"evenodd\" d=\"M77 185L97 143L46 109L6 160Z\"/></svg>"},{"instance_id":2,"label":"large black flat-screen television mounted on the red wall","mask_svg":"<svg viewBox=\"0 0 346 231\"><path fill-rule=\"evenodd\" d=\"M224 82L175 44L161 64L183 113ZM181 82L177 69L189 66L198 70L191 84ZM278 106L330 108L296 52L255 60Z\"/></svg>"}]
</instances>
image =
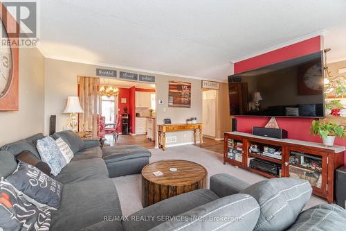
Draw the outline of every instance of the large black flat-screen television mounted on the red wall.
<instances>
[{"instance_id":1,"label":"large black flat-screen television mounted on the red wall","mask_svg":"<svg viewBox=\"0 0 346 231\"><path fill-rule=\"evenodd\" d=\"M323 53L228 76L230 115L323 118Z\"/></svg>"}]
</instances>

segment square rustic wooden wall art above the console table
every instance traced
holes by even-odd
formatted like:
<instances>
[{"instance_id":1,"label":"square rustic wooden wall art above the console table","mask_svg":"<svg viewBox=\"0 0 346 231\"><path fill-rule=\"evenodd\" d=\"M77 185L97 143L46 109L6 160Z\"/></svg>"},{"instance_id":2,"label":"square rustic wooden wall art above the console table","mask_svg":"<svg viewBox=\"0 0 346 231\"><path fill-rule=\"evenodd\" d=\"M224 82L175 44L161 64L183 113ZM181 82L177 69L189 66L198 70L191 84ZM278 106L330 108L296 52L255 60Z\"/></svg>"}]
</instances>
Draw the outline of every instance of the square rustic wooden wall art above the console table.
<instances>
[{"instance_id":1,"label":"square rustic wooden wall art above the console table","mask_svg":"<svg viewBox=\"0 0 346 231\"><path fill-rule=\"evenodd\" d=\"M191 108L191 83L170 81L168 107Z\"/></svg>"}]
</instances>

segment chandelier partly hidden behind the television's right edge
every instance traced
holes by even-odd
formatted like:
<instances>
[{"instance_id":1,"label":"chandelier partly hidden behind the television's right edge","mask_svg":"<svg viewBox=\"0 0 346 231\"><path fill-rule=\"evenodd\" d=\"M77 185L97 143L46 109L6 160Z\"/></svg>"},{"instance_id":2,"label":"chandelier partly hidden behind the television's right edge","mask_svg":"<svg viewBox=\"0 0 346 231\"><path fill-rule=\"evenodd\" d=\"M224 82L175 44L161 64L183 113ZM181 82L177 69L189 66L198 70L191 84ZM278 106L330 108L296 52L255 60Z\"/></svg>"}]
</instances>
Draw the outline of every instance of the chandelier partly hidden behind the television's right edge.
<instances>
[{"instance_id":1,"label":"chandelier partly hidden behind the television's right edge","mask_svg":"<svg viewBox=\"0 0 346 231\"><path fill-rule=\"evenodd\" d=\"M325 94L331 94L335 92L335 96L341 96L346 92L346 77L345 76L332 76L331 71L327 66L327 52L331 49L325 49Z\"/></svg>"}]
</instances>

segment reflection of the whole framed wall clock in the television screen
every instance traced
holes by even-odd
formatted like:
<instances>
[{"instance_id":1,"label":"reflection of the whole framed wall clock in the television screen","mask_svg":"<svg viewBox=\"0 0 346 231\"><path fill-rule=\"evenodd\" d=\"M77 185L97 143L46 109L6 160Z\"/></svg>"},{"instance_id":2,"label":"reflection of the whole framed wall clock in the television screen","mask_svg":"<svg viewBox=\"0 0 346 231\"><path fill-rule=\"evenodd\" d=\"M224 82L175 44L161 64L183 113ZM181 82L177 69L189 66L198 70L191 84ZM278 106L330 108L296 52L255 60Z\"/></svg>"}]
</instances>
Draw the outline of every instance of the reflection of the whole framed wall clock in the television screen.
<instances>
[{"instance_id":1,"label":"reflection of the whole framed wall clock in the television screen","mask_svg":"<svg viewBox=\"0 0 346 231\"><path fill-rule=\"evenodd\" d=\"M323 81L321 78L321 65L320 62L311 62L298 69L300 95L322 94Z\"/></svg>"}]
</instances>

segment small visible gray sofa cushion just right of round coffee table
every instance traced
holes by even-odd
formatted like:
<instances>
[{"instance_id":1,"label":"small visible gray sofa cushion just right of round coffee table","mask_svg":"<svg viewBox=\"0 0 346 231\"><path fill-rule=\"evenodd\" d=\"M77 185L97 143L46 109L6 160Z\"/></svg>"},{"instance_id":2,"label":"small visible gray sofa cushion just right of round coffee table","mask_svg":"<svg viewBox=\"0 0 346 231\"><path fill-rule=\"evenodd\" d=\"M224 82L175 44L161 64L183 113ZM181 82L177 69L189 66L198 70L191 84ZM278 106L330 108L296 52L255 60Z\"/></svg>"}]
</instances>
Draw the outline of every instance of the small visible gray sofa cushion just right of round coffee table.
<instances>
[{"instance_id":1,"label":"small visible gray sofa cushion just right of round coffee table","mask_svg":"<svg viewBox=\"0 0 346 231\"><path fill-rule=\"evenodd\" d=\"M248 182L226 173L219 173L210 177L210 190L214 191L219 197L237 194L249 186Z\"/></svg>"}]
</instances>

